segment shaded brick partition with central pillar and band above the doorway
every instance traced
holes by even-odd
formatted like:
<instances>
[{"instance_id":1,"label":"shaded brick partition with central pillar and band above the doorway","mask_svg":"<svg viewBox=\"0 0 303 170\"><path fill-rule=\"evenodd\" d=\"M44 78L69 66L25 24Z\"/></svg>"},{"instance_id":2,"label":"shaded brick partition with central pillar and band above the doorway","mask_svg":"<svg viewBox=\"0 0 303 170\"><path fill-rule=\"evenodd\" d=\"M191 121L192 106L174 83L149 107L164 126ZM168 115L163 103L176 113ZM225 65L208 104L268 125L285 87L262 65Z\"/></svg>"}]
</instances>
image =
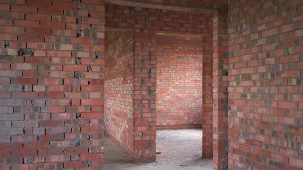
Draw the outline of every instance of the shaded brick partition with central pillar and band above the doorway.
<instances>
[{"instance_id":1,"label":"shaded brick partition with central pillar and band above the doorway","mask_svg":"<svg viewBox=\"0 0 303 170\"><path fill-rule=\"evenodd\" d=\"M135 30L134 57L134 162L155 161L156 139L156 30L203 32L203 56L208 67L203 73L211 73L212 15L192 12L135 8L106 5L106 26L133 28ZM143 62L143 65L141 64ZM212 156L212 76L203 77L203 157ZM204 97L203 97L204 98ZM204 127L205 126L205 127Z\"/></svg>"}]
</instances>

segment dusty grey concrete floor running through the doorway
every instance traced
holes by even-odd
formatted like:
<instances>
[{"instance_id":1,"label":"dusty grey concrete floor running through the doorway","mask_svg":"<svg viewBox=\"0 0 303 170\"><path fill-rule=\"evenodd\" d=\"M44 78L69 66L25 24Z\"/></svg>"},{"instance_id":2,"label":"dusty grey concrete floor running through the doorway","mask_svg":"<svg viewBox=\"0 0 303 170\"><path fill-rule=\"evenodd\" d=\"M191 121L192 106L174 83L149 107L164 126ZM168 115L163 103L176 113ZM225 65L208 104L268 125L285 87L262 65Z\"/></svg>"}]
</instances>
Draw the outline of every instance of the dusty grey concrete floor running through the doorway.
<instances>
[{"instance_id":1,"label":"dusty grey concrete floor running through the doorway","mask_svg":"<svg viewBox=\"0 0 303 170\"><path fill-rule=\"evenodd\" d=\"M132 164L131 155L109 137L105 137L104 170L212 170L211 159L201 159L202 130L157 131L157 161Z\"/></svg>"}]
</instances>

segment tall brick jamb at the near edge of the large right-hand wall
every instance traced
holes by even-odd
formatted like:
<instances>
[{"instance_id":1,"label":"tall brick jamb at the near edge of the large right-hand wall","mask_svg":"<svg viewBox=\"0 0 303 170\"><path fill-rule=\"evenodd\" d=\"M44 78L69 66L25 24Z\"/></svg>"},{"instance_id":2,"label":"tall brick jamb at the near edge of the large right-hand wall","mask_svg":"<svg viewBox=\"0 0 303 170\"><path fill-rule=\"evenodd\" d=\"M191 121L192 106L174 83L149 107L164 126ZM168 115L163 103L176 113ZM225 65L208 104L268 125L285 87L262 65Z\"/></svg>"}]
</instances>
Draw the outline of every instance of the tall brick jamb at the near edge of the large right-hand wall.
<instances>
[{"instance_id":1,"label":"tall brick jamb at the near edge of the large right-hand wall","mask_svg":"<svg viewBox=\"0 0 303 170\"><path fill-rule=\"evenodd\" d=\"M213 18L213 161L216 170L227 170L227 51L227 12L222 12Z\"/></svg>"}]
</instances>

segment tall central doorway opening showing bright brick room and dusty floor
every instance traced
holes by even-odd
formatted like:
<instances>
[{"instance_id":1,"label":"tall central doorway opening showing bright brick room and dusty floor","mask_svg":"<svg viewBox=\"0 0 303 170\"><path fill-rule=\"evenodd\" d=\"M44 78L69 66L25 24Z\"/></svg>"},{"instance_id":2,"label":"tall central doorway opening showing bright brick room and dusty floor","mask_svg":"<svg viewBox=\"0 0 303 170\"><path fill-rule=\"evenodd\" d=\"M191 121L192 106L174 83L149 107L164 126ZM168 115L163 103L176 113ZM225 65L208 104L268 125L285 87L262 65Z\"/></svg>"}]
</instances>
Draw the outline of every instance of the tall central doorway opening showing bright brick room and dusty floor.
<instances>
[{"instance_id":1,"label":"tall central doorway opening showing bright brick room and dusty floor","mask_svg":"<svg viewBox=\"0 0 303 170\"><path fill-rule=\"evenodd\" d=\"M156 159L174 168L211 168L211 159L201 159L203 37L161 35L156 45Z\"/></svg>"}]
</instances>

